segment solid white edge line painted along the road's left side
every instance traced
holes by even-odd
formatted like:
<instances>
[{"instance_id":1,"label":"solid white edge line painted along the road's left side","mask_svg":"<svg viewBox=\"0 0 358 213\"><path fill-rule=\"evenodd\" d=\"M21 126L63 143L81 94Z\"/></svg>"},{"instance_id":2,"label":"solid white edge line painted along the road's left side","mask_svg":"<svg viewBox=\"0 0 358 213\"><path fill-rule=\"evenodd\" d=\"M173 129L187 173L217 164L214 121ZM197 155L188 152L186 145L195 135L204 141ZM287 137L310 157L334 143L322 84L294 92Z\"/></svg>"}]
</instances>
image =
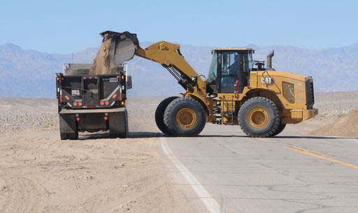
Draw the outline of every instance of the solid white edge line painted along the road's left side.
<instances>
[{"instance_id":1,"label":"solid white edge line painted along the road's left side","mask_svg":"<svg viewBox=\"0 0 358 213\"><path fill-rule=\"evenodd\" d=\"M211 196L208 191L200 184L198 180L190 173L187 168L176 158L171 149L166 143L164 138L160 138L162 143L162 150L166 156L171 160L171 162L178 168L178 171L184 176L184 178L189 182L192 189L194 189L196 195L201 198L204 205L210 213L221 213L221 208L219 203L216 202L215 198Z\"/></svg>"}]
</instances>

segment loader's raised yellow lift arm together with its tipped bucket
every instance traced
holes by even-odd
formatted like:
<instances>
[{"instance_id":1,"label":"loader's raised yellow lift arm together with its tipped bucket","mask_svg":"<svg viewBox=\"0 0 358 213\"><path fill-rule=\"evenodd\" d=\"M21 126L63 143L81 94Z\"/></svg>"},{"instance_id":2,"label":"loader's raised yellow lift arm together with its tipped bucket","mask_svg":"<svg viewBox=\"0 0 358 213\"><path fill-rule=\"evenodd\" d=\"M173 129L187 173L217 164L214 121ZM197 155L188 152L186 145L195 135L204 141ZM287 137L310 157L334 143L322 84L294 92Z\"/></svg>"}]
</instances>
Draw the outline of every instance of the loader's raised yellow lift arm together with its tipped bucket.
<instances>
[{"instance_id":1,"label":"loader's raised yellow lift arm together with its tipped bucket","mask_svg":"<svg viewBox=\"0 0 358 213\"><path fill-rule=\"evenodd\" d=\"M143 49L134 33L105 31L101 33L101 36L103 36L103 42L110 40L108 42L110 43L108 56L111 58L108 60L109 65L117 66L124 61L129 61L134 55L140 56L160 63L190 93L206 97L206 82L182 56L180 45L161 41Z\"/></svg>"}]
</instances>

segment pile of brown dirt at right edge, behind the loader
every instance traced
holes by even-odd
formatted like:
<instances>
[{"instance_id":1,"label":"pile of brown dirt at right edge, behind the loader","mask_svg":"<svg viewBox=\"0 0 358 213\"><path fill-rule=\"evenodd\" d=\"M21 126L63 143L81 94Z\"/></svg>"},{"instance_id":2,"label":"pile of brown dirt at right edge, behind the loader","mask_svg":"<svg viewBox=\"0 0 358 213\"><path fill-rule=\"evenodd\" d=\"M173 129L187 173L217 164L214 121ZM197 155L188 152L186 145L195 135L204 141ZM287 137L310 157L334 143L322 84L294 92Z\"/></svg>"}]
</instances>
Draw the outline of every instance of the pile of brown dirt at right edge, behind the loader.
<instances>
[{"instance_id":1,"label":"pile of brown dirt at right edge, behind the loader","mask_svg":"<svg viewBox=\"0 0 358 213\"><path fill-rule=\"evenodd\" d=\"M331 123L310 132L316 135L353 136L358 137L358 109L354 109L347 116L336 118Z\"/></svg>"}]
</instances>

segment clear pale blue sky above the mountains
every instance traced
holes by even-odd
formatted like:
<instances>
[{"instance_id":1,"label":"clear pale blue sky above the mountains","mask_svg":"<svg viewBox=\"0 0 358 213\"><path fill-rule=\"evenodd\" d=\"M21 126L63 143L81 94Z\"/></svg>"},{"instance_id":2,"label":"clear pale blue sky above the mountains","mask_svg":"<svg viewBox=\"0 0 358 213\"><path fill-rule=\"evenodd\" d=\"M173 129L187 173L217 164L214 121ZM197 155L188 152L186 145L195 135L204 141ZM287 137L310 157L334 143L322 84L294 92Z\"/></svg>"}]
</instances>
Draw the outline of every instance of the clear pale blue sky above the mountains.
<instances>
[{"instance_id":1,"label":"clear pale blue sky above the mountains","mask_svg":"<svg viewBox=\"0 0 358 213\"><path fill-rule=\"evenodd\" d=\"M141 41L323 49L358 43L358 1L1 0L0 26L0 44L53 53L99 46L109 29Z\"/></svg>"}]
</instances>

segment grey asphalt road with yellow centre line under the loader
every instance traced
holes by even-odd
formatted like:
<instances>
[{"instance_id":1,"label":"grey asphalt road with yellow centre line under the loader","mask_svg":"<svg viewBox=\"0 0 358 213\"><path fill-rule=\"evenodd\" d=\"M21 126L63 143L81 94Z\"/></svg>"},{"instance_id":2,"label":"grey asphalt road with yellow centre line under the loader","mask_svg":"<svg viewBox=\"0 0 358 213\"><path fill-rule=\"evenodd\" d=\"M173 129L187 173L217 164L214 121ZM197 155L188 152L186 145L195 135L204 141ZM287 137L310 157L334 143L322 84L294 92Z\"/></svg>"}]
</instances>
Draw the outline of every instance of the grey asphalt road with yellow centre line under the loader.
<instances>
[{"instance_id":1,"label":"grey asphalt road with yellow centre line under the loader","mask_svg":"<svg viewBox=\"0 0 358 213\"><path fill-rule=\"evenodd\" d=\"M200 137L162 143L197 180L188 184L182 168L169 165L199 212L210 211L192 190L198 185L220 205L211 212L358 212L358 139L293 132L250 139L238 127L209 124Z\"/></svg>"}]
</instances>

